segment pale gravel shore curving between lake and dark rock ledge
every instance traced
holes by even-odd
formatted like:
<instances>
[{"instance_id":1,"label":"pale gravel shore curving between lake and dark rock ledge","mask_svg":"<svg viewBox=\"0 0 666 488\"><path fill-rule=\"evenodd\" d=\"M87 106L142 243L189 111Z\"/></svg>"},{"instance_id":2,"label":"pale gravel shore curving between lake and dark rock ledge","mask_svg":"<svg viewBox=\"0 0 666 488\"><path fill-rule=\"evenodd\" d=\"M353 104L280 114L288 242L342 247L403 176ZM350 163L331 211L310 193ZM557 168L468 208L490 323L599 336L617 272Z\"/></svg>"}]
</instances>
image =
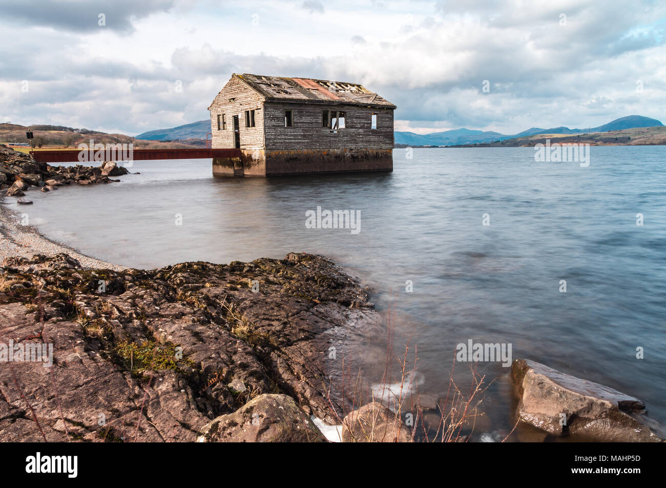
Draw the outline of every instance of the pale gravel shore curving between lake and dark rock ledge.
<instances>
[{"instance_id":1,"label":"pale gravel shore curving between lake and dark rock ledge","mask_svg":"<svg viewBox=\"0 0 666 488\"><path fill-rule=\"evenodd\" d=\"M123 271L124 266L106 263L93 257L83 255L71 247L61 244L42 235L32 225L21 224L21 214L8 209L0 200L0 261L6 257L33 257L35 254L53 256L67 253L85 269L113 269Z\"/></svg>"}]
</instances>

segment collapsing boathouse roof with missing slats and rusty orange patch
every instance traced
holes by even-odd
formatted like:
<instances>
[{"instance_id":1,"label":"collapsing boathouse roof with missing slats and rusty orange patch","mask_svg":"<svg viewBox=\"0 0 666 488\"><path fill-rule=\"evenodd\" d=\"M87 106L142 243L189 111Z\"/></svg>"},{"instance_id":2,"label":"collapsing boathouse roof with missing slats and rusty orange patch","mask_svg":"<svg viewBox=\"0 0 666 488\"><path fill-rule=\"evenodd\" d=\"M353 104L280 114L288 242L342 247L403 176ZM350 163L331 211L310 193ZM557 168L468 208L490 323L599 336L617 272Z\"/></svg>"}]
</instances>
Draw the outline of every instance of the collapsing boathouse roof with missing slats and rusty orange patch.
<instances>
[{"instance_id":1,"label":"collapsing boathouse roof with missing slats and rusty orange patch","mask_svg":"<svg viewBox=\"0 0 666 488\"><path fill-rule=\"evenodd\" d=\"M293 101L298 103L344 103L395 109L390 101L357 83L327 81L310 78L287 78L244 73L238 77L257 91L266 101Z\"/></svg>"}]
</instances>

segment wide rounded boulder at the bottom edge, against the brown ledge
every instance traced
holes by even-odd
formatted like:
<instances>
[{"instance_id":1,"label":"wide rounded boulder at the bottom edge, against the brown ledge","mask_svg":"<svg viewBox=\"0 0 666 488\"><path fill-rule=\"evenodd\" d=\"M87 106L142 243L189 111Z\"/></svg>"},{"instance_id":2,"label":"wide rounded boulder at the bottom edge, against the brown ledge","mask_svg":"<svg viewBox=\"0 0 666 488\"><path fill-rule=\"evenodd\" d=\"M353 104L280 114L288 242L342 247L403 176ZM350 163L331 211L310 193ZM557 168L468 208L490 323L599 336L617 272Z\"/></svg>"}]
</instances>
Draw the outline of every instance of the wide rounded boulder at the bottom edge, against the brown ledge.
<instances>
[{"instance_id":1,"label":"wide rounded boulder at the bottom edge, against the brown ledge","mask_svg":"<svg viewBox=\"0 0 666 488\"><path fill-rule=\"evenodd\" d=\"M292 397L264 393L202 429L199 442L324 442Z\"/></svg>"}]
</instances>

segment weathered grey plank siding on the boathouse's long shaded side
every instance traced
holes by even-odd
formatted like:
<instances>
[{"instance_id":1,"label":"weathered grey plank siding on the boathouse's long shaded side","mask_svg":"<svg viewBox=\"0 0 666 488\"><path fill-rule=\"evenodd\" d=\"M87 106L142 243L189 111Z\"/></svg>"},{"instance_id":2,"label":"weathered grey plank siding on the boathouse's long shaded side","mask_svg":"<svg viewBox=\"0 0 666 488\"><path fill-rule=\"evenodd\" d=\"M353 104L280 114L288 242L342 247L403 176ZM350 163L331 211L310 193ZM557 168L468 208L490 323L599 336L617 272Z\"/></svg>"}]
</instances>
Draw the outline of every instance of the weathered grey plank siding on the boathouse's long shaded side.
<instances>
[{"instance_id":1,"label":"weathered grey plank siding on the boathouse's long shaded side","mask_svg":"<svg viewBox=\"0 0 666 488\"><path fill-rule=\"evenodd\" d=\"M284 111L292 111L292 127L284 127ZM344 111L345 128L322 127L324 110ZM377 129L372 129L372 114ZM393 110L334 103L264 103L266 149L392 149Z\"/></svg>"}]
</instances>

